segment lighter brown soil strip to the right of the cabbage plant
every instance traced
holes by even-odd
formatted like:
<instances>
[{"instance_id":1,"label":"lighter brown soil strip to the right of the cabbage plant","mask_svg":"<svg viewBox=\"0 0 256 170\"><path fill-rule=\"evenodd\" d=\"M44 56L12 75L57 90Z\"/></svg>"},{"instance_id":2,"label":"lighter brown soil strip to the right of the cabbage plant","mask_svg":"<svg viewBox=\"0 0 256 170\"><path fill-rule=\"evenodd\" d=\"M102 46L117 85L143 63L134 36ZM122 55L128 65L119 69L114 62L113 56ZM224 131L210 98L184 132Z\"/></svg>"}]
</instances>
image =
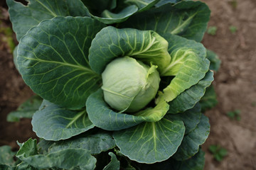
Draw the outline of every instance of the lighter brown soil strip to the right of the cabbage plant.
<instances>
[{"instance_id":1,"label":"lighter brown soil strip to the right of the cabbage plant","mask_svg":"<svg viewBox=\"0 0 256 170\"><path fill-rule=\"evenodd\" d=\"M218 106L208 111L210 137L203 145L206 170L256 169L256 1L238 0L235 7L227 0L204 0L210 7L208 26L218 28L207 35L203 44L215 51L222 64L215 74ZM238 28L231 33L230 26ZM241 111L241 120L230 120L229 111ZM228 156L218 163L208 152L209 145L228 149Z\"/></svg>"}]
</instances>

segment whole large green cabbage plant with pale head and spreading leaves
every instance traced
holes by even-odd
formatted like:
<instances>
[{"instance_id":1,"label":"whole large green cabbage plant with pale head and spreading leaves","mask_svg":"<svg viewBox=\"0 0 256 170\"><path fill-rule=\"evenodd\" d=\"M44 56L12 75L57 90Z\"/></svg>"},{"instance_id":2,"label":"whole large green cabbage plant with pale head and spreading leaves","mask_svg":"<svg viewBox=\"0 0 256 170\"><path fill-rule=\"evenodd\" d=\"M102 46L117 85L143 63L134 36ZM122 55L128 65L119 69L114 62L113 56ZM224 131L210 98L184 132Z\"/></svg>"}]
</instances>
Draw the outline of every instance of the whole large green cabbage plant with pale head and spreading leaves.
<instances>
[{"instance_id":1,"label":"whole large green cabbage plant with pale head and spreading leaves","mask_svg":"<svg viewBox=\"0 0 256 170\"><path fill-rule=\"evenodd\" d=\"M210 108L203 96L219 64L201 44L206 4L7 4L18 72L43 102L32 118L40 142L19 144L18 164L1 166L203 169L210 125L201 106Z\"/></svg>"}]
</instances>

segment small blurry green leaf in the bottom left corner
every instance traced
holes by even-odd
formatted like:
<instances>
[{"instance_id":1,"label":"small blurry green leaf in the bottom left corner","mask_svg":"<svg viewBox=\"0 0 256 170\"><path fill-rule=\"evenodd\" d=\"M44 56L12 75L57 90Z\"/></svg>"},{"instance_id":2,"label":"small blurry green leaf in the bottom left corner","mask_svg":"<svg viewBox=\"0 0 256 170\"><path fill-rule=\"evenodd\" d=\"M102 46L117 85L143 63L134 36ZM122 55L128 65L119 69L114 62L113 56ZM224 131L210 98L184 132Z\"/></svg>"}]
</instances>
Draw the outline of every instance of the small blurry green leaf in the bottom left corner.
<instances>
[{"instance_id":1,"label":"small blurry green leaf in the bottom left corner","mask_svg":"<svg viewBox=\"0 0 256 170\"><path fill-rule=\"evenodd\" d=\"M14 155L15 152L11 151L11 147L9 146L1 146L0 147L0 164L6 164L9 166L14 165Z\"/></svg>"}]
</instances>

